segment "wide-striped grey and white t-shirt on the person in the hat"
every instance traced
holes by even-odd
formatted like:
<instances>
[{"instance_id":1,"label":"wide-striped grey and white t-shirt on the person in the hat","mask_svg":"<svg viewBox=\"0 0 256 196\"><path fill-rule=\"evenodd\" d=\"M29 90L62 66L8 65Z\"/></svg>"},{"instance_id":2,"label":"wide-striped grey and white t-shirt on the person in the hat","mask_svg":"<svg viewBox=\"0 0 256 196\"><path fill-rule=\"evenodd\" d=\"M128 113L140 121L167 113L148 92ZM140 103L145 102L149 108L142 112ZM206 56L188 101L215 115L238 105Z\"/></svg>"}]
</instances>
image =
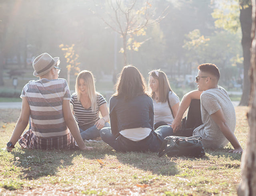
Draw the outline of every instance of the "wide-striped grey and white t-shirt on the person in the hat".
<instances>
[{"instance_id":1,"label":"wide-striped grey and white t-shirt on the person in the hat","mask_svg":"<svg viewBox=\"0 0 256 196\"><path fill-rule=\"evenodd\" d=\"M63 100L70 100L65 79L31 80L24 86L20 97L28 100L31 129L37 137L56 137L70 133L62 111Z\"/></svg>"}]
</instances>

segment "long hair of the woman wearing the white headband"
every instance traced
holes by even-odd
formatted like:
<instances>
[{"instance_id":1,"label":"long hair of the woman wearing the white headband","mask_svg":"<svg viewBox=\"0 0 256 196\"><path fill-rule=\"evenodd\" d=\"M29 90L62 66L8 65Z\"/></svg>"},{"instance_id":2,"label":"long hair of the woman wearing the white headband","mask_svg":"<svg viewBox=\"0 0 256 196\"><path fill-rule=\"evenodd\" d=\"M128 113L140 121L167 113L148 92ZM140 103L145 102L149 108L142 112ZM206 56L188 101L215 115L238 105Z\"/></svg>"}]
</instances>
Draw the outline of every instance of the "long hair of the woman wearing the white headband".
<instances>
[{"instance_id":1,"label":"long hair of the woman wearing the white headband","mask_svg":"<svg viewBox=\"0 0 256 196\"><path fill-rule=\"evenodd\" d=\"M150 71L149 77L150 76L158 80L158 90L159 90L158 102L163 102L163 103L166 102L169 95L168 92L170 91L173 92L166 74L160 70L153 70L153 71ZM155 95L155 92L152 92L149 81L148 81L148 92L150 96L154 99L156 95Z\"/></svg>"}]
</instances>

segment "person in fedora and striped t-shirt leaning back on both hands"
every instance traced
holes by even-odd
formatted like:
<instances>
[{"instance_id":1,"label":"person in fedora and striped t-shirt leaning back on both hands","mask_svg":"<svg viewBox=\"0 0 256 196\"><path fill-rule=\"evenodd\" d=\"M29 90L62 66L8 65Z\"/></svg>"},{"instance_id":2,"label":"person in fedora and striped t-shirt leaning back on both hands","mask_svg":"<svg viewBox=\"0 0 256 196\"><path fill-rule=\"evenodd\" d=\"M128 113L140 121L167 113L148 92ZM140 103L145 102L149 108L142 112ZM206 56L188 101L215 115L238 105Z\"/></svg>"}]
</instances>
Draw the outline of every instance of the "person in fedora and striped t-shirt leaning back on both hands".
<instances>
[{"instance_id":1,"label":"person in fedora and striped t-shirt leaning back on both hands","mask_svg":"<svg viewBox=\"0 0 256 196\"><path fill-rule=\"evenodd\" d=\"M59 57L52 58L48 53L33 61L33 75L39 80L30 80L23 87L20 118L7 151L12 151L17 141L22 148L29 149L92 149L85 145L72 115L67 81L58 78L59 64ZM22 135L29 118L31 129Z\"/></svg>"}]
</instances>

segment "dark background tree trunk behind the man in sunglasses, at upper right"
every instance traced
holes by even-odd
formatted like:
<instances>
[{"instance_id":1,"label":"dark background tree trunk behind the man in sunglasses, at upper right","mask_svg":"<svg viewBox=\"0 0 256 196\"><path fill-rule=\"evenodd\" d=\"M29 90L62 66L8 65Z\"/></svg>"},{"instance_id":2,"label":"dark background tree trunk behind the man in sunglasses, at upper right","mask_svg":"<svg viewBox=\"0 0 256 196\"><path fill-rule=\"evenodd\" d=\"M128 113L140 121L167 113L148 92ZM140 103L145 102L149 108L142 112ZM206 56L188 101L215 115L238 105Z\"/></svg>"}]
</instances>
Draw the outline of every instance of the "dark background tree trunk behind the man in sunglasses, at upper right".
<instances>
[{"instance_id":1,"label":"dark background tree trunk behind the man in sunglasses, at upper right","mask_svg":"<svg viewBox=\"0 0 256 196\"><path fill-rule=\"evenodd\" d=\"M250 79L248 71L250 68L250 47L252 45L252 6L240 9L240 23L242 27L242 48L244 57L244 82L243 94L239 106L248 106L250 94Z\"/></svg>"}]
</instances>

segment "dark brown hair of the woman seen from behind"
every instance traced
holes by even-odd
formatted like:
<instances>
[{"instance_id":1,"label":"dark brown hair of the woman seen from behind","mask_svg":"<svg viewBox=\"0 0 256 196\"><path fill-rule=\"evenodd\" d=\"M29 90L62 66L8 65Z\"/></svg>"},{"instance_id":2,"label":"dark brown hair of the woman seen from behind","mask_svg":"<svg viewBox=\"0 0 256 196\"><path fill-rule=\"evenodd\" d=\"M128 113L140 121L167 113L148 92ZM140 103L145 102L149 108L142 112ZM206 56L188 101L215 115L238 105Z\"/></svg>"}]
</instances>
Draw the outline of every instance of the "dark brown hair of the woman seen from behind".
<instances>
[{"instance_id":1,"label":"dark brown hair of the woman seen from behind","mask_svg":"<svg viewBox=\"0 0 256 196\"><path fill-rule=\"evenodd\" d=\"M116 93L113 96L124 97L126 100L146 94L145 79L132 65L124 66L116 83Z\"/></svg>"}]
</instances>

